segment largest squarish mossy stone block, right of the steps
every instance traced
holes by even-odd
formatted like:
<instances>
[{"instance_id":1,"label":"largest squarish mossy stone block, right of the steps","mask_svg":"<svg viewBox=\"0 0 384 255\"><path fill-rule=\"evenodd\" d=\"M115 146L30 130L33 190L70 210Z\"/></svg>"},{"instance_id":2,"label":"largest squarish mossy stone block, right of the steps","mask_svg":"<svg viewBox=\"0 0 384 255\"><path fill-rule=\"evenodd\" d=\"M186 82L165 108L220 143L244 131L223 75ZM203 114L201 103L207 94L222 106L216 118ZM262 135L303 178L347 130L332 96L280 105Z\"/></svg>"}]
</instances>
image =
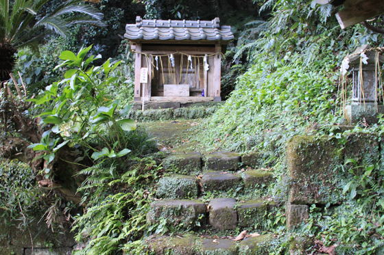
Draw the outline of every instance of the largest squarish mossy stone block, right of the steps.
<instances>
[{"instance_id":1,"label":"largest squarish mossy stone block, right of the steps","mask_svg":"<svg viewBox=\"0 0 384 255\"><path fill-rule=\"evenodd\" d=\"M341 200L338 182L344 150L333 139L299 135L287 142L287 163L292 180L291 204L331 204Z\"/></svg>"}]
</instances>

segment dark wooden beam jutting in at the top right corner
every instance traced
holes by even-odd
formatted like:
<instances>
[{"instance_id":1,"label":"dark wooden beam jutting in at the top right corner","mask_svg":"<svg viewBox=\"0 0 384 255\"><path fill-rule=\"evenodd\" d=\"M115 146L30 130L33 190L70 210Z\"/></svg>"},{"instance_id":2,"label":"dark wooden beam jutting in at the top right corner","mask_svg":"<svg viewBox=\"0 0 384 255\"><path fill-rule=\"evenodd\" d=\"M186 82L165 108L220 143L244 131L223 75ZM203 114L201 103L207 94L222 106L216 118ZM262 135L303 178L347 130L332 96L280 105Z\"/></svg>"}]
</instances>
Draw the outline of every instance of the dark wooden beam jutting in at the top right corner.
<instances>
[{"instance_id":1,"label":"dark wooden beam jutting in at the top right corner","mask_svg":"<svg viewBox=\"0 0 384 255\"><path fill-rule=\"evenodd\" d=\"M344 6L346 8L336 14L341 29L384 13L383 0L349 0L344 2Z\"/></svg>"}]
</instances>

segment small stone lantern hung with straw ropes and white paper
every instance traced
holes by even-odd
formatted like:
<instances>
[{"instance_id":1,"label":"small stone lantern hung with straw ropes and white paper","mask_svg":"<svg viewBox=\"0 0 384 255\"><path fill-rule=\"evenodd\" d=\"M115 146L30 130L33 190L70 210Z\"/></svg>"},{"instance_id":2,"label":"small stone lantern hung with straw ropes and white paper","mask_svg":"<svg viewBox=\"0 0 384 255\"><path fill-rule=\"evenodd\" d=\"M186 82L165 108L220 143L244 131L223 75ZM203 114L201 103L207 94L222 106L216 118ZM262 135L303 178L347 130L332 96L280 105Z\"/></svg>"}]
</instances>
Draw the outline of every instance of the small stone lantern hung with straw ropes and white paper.
<instances>
[{"instance_id":1,"label":"small stone lantern hung with straw ropes and white paper","mask_svg":"<svg viewBox=\"0 0 384 255\"><path fill-rule=\"evenodd\" d=\"M370 49L369 45L363 45L348 56L349 65L352 68L352 103L346 106L346 120L348 124L357 124L365 119L368 124L377 123L377 114L384 112L384 106L376 103L379 99L379 77L376 79L375 53L367 51L365 59L368 64L362 64L360 70L361 53ZM379 55L380 66L384 64L384 57ZM361 85L361 75L363 77ZM377 93L377 95L376 95Z\"/></svg>"}]
</instances>

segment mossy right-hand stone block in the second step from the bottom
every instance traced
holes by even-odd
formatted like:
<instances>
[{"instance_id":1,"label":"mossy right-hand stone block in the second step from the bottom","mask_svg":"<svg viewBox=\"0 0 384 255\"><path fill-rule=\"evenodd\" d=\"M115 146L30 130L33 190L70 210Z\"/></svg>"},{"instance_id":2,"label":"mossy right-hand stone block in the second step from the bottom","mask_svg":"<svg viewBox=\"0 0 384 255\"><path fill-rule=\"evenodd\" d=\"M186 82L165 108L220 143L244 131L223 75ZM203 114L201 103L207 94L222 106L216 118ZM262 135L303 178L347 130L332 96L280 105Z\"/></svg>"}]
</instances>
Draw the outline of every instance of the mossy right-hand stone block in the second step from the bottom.
<instances>
[{"instance_id":1,"label":"mossy right-hand stone block in the second step from the bottom","mask_svg":"<svg viewBox=\"0 0 384 255\"><path fill-rule=\"evenodd\" d=\"M264 204L263 200L250 200L240 204L237 208L239 226L260 229L259 225L267 214L267 204Z\"/></svg>"}]
</instances>

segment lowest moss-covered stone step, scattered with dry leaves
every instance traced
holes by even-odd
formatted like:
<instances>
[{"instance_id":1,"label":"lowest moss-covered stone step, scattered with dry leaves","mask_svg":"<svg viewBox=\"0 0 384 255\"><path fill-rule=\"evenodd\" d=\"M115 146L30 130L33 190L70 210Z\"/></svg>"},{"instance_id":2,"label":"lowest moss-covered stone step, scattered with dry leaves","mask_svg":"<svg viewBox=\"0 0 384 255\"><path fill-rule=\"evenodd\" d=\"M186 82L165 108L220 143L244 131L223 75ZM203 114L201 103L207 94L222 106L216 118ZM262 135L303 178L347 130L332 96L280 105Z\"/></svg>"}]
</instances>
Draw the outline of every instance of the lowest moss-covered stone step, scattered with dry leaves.
<instances>
[{"instance_id":1,"label":"lowest moss-covered stone step, scattered with dry leaves","mask_svg":"<svg viewBox=\"0 0 384 255\"><path fill-rule=\"evenodd\" d=\"M235 242L230 239L206 239L193 234L178 237L151 236L144 246L151 254L163 255L267 255L272 235L245 238Z\"/></svg>"}]
</instances>

